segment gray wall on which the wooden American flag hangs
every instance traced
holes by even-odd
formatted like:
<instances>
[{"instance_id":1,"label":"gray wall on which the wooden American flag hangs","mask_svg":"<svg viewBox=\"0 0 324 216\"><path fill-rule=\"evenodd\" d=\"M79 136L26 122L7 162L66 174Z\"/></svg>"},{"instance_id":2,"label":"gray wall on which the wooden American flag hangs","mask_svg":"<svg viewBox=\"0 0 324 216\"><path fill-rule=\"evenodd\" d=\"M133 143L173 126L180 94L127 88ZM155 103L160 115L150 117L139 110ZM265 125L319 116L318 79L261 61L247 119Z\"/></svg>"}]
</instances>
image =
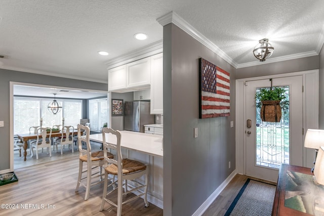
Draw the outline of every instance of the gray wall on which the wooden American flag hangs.
<instances>
[{"instance_id":1,"label":"gray wall on which the wooden American flag hangs","mask_svg":"<svg viewBox=\"0 0 324 216\"><path fill-rule=\"evenodd\" d=\"M235 69L174 24L163 47L164 215L192 215L235 169ZM228 117L199 119L200 57L230 73Z\"/></svg>"}]
</instances>

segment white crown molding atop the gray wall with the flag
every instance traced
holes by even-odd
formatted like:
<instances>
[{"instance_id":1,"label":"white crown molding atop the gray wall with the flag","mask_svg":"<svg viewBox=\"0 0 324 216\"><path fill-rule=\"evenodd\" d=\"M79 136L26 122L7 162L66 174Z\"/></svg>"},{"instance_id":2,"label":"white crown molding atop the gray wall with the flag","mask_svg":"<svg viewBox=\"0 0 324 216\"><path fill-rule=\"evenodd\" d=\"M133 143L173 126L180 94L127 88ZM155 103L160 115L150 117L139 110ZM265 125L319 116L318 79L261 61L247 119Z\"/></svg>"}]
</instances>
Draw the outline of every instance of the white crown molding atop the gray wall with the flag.
<instances>
[{"instance_id":1,"label":"white crown molding atop the gray wall with the flag","mask_svg":"<svg viewBox=\"0 0 324 216\"><path fill-rule=\"evenodd\" d=\"M197 31L197 29L195 29L193 26L191 26L188 22L186 22L184 19L182 19L175 12L172 11L160 18L157 18L156 21L162 26L165 26L169 23L175 24L180 29L185 31L187 34L191 35L193 38L198 40L201 44L205 45L207 48L212 50L214 53L216 53L218 56L220 56L222 59L224 59L230 65L232 65L234 68L237 66L237 63L235 61L233 61L233 59L231 59L226 53L224 53L212 41L210 41L207 37L205 37L199 31Z\"/></svg>"}]
</instances>

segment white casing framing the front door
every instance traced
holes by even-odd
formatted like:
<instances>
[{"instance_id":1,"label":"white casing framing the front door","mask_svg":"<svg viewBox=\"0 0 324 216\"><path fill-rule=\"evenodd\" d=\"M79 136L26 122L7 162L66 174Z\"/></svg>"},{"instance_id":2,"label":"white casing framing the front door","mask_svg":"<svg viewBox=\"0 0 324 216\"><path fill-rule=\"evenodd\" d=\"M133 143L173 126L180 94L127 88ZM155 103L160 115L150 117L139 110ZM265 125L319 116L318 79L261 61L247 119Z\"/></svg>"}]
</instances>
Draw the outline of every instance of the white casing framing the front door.
<instances>
[{"instance_id":1,"label":"white casing framing the front door","mask_svg":"<svg viewBox=\"0 0 324 216\"><path fill-rule=\"evenodd\" d=\"M309 71L275 74L269 76L250 77L235 80L235 171L246 174L246 89L245 83L252 80L300 76L303 77L303 138L308 128L318 128L318 69ZM313 149L303 148L302 165L312 167L314 159ZM294 163L295 158L291 159ZM276 179L275 181L276 182Z\"/></svg>"}]
</instances>

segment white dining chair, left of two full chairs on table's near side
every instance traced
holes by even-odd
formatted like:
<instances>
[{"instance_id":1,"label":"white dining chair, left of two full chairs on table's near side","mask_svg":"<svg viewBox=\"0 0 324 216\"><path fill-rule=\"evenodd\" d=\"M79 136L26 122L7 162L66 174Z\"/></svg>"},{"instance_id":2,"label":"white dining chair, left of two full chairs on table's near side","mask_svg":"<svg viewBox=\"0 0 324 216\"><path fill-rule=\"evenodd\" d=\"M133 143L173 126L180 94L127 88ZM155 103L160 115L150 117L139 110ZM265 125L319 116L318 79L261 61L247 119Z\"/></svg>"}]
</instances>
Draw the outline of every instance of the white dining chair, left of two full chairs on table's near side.
<instances>
[{"instance_id":1,"label":"white dining chair, left of two full chairs on table's near side","mask_svg":"<svg viewBox=\"0 0 324 216\"><path fill-rule=\"evenodd\" d=\"M49 133L47 133L47 130L49 130ZM47 137L49 135L49 137ZM50 127L41 127L37 129L37 139L36 142L32 143L30 146L31 149L31 157L33 157L34 152L33 148L36 149L36 159L38 159L38 149L39 148L46 148L47 153L50 154L50 157L52 157L52 151L51 151L51 135L52 135L52 128Z\"/></svg>"}]
</instances>

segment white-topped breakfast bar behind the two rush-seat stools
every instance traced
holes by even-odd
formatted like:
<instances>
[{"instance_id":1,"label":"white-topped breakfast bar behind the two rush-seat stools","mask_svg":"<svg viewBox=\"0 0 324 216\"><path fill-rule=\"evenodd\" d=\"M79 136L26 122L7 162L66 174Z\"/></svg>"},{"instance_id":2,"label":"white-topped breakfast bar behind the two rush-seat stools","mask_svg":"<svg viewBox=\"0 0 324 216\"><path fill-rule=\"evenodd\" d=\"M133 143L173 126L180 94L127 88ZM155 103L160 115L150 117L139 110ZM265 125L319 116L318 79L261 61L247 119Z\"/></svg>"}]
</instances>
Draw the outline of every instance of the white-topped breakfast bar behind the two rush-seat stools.
<instances>
[{"instance_id":1,"label":"white-topped breakfast bar behind the two rush-seat stools","mask_svg":"<svg viewBox=\"0 0 324 216\"><path fill-rule=\"evenodd\" d=\"M89 138L91 141L102 143L102 134L92 134ZM111 139L115 137L108 135L106 142L110 140L114 143ZM147 199L163 208L163 136L120 131L120 145L124 158L136 159L149 165Z\"/></svg>"}]
</instances>

